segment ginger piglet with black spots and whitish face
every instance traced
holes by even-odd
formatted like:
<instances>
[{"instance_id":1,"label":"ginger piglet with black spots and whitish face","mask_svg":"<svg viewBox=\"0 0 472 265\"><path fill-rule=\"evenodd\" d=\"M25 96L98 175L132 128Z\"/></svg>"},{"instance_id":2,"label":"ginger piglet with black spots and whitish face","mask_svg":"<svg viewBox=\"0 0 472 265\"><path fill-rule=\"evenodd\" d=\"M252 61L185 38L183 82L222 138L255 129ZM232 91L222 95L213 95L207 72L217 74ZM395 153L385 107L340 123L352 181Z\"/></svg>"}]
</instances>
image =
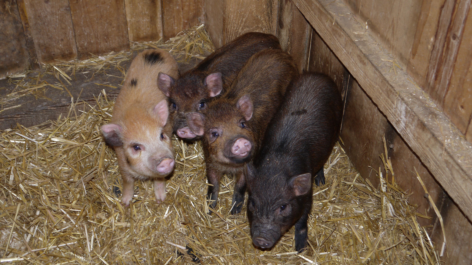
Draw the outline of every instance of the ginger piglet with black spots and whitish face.
<instances>
[{"instance_id":1,"label":"ginger piglet with black spots and whitish face","mask_svg":"<svg viewBox=\"0 0 472 265\"><path fill-rule=\"evenodd\" d=\"M178 77L177 62L167 51L138 54L116 99L111 123L101 126L105 142L118 157L125 206L133 197L135 179L152 179L156 200L163 201L165 177L174 168L169 101L158 87L159 73Z\"/></svg>"}]
</instances>

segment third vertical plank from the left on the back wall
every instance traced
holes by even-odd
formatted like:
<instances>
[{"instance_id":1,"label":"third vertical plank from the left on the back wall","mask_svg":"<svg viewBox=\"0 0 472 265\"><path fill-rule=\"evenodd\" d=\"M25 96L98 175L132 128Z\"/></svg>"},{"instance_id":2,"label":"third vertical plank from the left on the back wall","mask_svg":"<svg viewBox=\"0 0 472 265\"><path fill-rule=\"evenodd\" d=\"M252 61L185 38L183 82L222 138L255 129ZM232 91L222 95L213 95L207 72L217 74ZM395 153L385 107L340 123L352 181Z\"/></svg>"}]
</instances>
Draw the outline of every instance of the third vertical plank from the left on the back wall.
<instances>
[{"instance_id":1,"label":"third vertical plank from the left on the back wall","mask_svg":"<svg viewBox=\"0 0 472 265\"><path fill-rule=\"evenodd\" d=\"M78 58L129 47L123 0L69 0Z\"/></svg>"}]
</instances>

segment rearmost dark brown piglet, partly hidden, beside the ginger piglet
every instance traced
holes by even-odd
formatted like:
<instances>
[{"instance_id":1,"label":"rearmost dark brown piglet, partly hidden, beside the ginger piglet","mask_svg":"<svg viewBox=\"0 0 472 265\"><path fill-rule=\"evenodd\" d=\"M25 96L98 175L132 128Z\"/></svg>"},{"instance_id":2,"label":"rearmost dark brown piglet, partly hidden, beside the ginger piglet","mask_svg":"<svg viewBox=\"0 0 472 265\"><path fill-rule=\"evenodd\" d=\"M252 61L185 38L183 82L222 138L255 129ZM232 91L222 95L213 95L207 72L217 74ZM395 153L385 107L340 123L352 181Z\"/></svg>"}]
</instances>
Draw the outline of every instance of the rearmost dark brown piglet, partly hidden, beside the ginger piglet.
<instances>
[{"instance_id":1,"label":"rearmost dark brown piglet, partly hidden, beside the ginger piglet","mask_svg":"<svg viewBox=\"0 0 472 265\"><path fill-rule=\"evenodd\" d=\"M200 138L188 127L185 114L200 112L213 97L224 94L246 61L254 53L269 48L280 49L274 35L245 33L215 50L177 80L160 74L159 87L169 97L174 133L187 140Z\"/></svg>"}]
</instances>

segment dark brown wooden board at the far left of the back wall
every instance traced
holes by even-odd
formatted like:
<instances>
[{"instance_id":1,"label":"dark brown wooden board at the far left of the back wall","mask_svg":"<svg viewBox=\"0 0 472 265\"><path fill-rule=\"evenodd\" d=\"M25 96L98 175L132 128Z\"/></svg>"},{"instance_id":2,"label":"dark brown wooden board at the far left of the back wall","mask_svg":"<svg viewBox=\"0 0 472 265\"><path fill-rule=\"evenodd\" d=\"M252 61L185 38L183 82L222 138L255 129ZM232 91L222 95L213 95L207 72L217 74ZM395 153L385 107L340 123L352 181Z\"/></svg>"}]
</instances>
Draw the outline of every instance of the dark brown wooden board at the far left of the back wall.
<instances>
[{"instance_id":1,"label":"dark brown wooden board at the far left of the back wall","mask_svg":"<svg viewBox=\"0 0 472 265\"><path fill-rule=\"evenodd\" d=\"M0 5L0 78L27 65L25 33L15 0Z\"/></svg>"}]
</instances>

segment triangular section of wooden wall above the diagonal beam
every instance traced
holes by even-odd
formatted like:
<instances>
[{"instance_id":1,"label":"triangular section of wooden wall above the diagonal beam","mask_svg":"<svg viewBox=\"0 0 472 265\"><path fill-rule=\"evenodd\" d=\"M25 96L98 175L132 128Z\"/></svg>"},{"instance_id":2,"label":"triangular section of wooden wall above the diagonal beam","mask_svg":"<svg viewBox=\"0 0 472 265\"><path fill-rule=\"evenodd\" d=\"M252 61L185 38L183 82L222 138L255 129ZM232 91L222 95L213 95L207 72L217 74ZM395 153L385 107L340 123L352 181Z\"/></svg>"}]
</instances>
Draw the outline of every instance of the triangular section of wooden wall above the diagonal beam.
<instances>
[{"instance_id":1,"label":"triangular section of wooden wall above the diagonal beam","mask_svg":"<svg viewBox=\"0 0 472 265\"><path fill-rule=\"evenodd\" d=\"M343 2L472 141L470 1Z\"/></svg>"}]
</instances>

